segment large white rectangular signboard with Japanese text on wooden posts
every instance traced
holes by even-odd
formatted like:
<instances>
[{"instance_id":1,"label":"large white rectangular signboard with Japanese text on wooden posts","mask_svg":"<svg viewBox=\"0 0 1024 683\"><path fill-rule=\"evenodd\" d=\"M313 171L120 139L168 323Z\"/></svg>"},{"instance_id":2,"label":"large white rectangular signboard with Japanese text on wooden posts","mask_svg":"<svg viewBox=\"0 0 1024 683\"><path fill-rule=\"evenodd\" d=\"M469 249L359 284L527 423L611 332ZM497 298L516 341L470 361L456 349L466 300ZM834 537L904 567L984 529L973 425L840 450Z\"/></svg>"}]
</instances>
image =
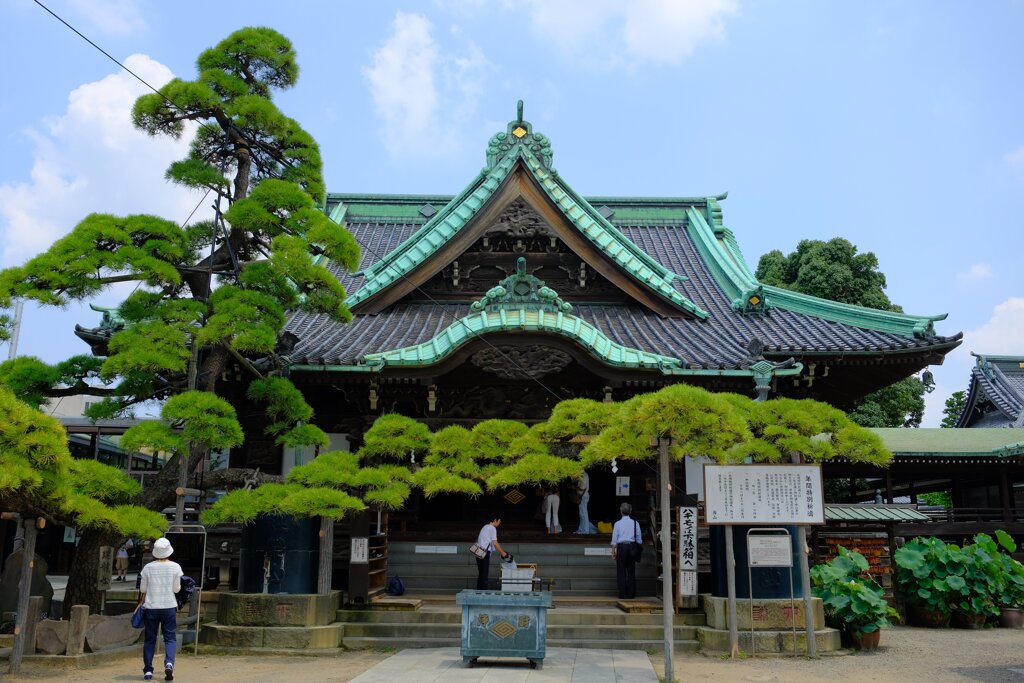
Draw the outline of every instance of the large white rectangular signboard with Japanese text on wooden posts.
<instances>
[{"instance_id":1,"label":"large white rectangular signboard with Japanese text on wooden posts","mask_svg":"<svg viewBox=\"0 0 1024 683\"><path fill-rule=\"evenodd\" d=\"M709 524L824 524L820 465L706 465Z\"/></svg>"}]
</instances>

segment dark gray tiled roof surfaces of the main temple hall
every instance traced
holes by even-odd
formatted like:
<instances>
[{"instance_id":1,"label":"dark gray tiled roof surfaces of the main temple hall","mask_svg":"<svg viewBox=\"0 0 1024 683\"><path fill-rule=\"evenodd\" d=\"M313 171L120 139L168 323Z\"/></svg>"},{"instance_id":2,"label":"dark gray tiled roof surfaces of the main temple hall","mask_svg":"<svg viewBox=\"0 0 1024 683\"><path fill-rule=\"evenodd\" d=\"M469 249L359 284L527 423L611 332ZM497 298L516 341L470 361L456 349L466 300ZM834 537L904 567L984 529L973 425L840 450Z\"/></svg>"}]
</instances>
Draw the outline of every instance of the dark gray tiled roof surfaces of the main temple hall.
<instances>
[{"instance_id":1,"label":"dark gray tiled roof surfaces of the main temple hall","mask_svg":"<svg viewBox=\"0 0 1024 683\"><path fill-rule=\"evenodd\" d=\"M364 245L360 269L379 260L420 227L412 223L348 224ZM685 360L693 368L735 368L746 356L745 343L757 337L772 354L899 351L946 345L956 337L909 337L854 327L811 315L773 309L764 315L743 315L709 272L685 225L617 225L673 272L686 275L679 291L709 311L708 321L662 317L640 305L589 305L573 302L573 313L593 324L613 341ZM361 278L335 270L349 293ZM426 341L469 312L467 304L398 303L377 314L355 315L341 325L323 315L295 313L288 330L299 337L290 354L293 364L351 365L367 353Z\"/></svg>"}]
</instances>

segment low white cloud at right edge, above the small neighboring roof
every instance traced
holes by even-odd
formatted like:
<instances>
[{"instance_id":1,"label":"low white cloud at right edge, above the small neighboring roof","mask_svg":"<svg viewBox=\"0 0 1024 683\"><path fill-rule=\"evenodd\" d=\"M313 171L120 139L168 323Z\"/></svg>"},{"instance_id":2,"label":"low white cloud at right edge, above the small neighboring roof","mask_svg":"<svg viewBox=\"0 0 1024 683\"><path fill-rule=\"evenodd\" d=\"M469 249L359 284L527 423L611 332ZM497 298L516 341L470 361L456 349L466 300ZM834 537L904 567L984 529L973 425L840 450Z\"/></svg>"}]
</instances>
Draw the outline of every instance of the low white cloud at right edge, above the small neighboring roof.
<instances>
[{"instance_id":1,"label":"low white cloud at right edge, above the small neighboring roof","mask_svg":"<svg viewBox=\"0 0 1024 683\"><path fill-rule=\"evenodd\" d=\"M975 358L971 353L1018 355L1024 353L1024 297L1011 297L995 306L991 317L976 330L964 333L964 343L946 356L945 362L932 368L935 391L925 396L922 426L937 427L942 408L954 391L967 391Z\"/></svg>"}]
</instances>

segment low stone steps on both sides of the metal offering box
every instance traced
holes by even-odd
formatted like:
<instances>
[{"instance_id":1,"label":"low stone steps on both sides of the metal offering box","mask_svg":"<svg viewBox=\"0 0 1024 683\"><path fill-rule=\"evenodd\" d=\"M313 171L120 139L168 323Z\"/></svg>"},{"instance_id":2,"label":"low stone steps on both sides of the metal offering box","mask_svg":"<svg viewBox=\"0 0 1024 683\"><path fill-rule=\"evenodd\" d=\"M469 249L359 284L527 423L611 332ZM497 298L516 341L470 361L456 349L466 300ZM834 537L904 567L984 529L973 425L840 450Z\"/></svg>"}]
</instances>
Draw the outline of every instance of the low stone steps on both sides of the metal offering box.
<instances>
[{"instance_id":1,"label":"low stone steps on both sides of the metal offering box","mask_svg":"<svg viewBox=\"0 0 1024 683\"><path fill-rule=\"evenodd\" d=\"M451 604L425 604L411 611L341 609L342 646L350 649L458 647L462 612ZM677 651L696 651L702 613L675 616ZM660 613L626 613L616 607L556 607L548 611L548 647L659 650Z\"/></svg>"}]
</instances>

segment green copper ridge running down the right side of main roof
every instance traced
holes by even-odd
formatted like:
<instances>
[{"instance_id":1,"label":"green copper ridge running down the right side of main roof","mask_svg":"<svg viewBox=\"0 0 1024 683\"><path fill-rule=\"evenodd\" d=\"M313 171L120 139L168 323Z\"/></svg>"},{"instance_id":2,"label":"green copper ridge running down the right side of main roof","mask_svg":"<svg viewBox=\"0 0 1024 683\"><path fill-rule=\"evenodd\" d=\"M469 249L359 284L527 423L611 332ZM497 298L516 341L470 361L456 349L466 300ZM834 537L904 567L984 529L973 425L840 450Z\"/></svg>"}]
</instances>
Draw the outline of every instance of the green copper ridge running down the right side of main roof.
<instances>
[{"instance_id":1,"label":"green copper ridge running down the right side of main roof","mask_svg":"<svg viewBox=\"0 0 1024 683\"><path fill-rule=\"evenodd\" d=\"M904 337L928 337L935 334L934 323L946 318L938 315L909 315L853 304L819 299L772 285L762 285L746 267L731 233L724 228L716 231L705 216L692 207L686 211L687 230L700 251L708 269L726 295L737 304L758 288L763 288L765 305L795 313L812 315L833 323L888 332ZM723 234L720 236L719 232ZM724 244L723 244L724 243Z\"/></svg>"}]
</instances>

